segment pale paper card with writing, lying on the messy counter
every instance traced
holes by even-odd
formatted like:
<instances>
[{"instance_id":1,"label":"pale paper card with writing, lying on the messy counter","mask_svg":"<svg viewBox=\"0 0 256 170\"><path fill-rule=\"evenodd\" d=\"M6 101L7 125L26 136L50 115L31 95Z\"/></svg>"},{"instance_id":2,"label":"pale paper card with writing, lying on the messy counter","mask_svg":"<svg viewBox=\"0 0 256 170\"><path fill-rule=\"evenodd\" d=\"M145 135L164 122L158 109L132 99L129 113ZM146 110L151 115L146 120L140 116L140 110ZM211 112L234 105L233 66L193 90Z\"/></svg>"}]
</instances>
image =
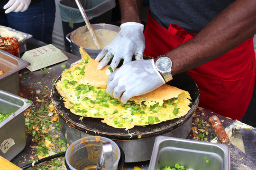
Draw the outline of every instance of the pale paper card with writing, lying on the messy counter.
<instances>
[{"instance_id":1,"label":"pale paper card with writing, lying on the messy counter","mask_svg":"<svg viewBox=\"0 0 256 170\"><path fill-rule=\"evenodd\" d=\"M36 71L47 66L65 61L68 57L52 44L26 51L21 59L30 63L30 71Z\"/></svg>"}]
</instances>

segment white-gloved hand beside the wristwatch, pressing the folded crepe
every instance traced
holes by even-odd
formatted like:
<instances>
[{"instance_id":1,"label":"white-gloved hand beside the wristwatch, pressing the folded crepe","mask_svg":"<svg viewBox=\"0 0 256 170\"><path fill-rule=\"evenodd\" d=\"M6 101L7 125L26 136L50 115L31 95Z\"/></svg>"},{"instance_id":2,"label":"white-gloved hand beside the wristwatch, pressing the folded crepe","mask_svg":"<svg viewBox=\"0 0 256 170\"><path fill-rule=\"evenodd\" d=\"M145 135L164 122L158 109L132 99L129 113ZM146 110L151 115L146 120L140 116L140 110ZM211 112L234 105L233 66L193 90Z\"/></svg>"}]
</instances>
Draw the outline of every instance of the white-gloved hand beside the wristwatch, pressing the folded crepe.
<instances>
[{"instance_id":1,"label":"white-gloved hand beside the wristwatch, pressing the folded crepe","mask_svg":"<svg viewBox=\"0 0 256 170\"><path fill-rule=\"evenodd\" d=\"M107 93L126 103L133 96L145 94L165 84L153 59L128 62L110 74Z\"/></svg>"}]
</instances>

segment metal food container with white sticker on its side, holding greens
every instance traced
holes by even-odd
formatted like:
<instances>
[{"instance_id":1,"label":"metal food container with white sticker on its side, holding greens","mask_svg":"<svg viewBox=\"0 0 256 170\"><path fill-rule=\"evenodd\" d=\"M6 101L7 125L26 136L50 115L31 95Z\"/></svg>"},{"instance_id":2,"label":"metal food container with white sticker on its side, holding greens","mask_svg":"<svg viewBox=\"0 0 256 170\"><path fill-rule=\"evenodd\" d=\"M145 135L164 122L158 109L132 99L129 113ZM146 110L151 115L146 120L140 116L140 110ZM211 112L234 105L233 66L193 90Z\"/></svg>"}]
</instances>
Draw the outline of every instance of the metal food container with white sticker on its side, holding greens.
<instances>
[{"instance_id":1,"label":"metal food container with white sticker on its side, holding greens","mask_svg":"<svg viewBox=\"0 0 256 170\"><path fill-rule=\"evenodd\" d=\"M8 161L20 153L26 145L24 111L31 101L0 90L0 113L11 114L0 122L0 156Z\"/></svg>"}]
</instances>

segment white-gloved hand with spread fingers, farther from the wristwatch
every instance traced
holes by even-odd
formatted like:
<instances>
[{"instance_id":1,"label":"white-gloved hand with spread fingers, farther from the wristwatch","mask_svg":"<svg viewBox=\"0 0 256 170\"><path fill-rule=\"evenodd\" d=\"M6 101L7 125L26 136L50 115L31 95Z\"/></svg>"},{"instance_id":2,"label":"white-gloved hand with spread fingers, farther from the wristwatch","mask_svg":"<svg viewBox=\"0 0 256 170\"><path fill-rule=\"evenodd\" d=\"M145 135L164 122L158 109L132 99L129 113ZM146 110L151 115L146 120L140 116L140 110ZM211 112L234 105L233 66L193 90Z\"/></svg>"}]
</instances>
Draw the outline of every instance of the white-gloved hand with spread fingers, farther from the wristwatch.
<instances>
[{"instance_id":1,"label":"white-gloved hand with spread fingers, farther from the wristwatch","mask_svg":"<svg viewBox=\"0 0 256 170\"><path fill-rule=\"evenodd\" d=\"M121 59L123 64L132 60L133 54L135 59L143 59L142 54L145 49L145 37L143 34L144 26L136 22L127 22L120 26L121 30L109 45L107 45L95 58L100 62L97 69L104 68L110 59L112 62L106 74L110 74L117 68Z\"/></svg>"}]
</instances>

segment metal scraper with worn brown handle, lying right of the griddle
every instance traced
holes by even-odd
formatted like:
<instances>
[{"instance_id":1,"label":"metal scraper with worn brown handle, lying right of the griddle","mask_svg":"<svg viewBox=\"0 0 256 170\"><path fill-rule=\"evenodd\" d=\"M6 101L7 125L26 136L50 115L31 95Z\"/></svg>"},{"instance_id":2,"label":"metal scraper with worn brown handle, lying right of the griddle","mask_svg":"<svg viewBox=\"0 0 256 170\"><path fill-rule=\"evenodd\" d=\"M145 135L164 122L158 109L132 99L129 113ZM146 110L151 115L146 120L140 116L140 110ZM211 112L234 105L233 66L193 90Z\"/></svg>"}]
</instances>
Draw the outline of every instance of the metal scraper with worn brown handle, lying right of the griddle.
<instances>
[{"instance_id":1,"label":"metal scraper with worn brown handle, lying right of the griddle","mask_svg":"<svg viewBox=\"0 0 256 170\"><path fill-rule=\"evenodd\" d=\"M247 155L230 143L229 137L225 132L217 116L209 118L211 127L214 129L221 144L227 144L230 150L230 169L231 170L256 170L254 163L247 158Z\"/></svg>"}]
</instances>

